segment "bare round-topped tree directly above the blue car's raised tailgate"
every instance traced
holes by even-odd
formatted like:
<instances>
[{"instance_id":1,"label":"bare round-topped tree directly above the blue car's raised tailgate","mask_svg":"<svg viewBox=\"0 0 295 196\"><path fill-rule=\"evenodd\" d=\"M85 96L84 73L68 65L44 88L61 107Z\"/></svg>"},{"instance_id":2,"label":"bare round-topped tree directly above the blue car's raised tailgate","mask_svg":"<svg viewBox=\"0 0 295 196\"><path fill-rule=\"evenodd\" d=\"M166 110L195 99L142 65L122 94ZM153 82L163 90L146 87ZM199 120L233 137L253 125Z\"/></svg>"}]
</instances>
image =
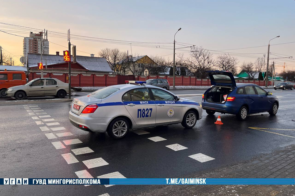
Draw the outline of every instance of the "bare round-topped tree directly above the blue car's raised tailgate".
<instances>
[{"instance_id":1,"label":"bare round-topped tree directly above the blue car's raised tailgate","mask_svg":"<svg viewBox=\"0 0 295 196\"><path fill-rule=\"evenodd\" d=\"M224 71L230 71L232 74L237 74L238 59L229 54L217 56L216 66Z\"/></svg>"}]
</instances>

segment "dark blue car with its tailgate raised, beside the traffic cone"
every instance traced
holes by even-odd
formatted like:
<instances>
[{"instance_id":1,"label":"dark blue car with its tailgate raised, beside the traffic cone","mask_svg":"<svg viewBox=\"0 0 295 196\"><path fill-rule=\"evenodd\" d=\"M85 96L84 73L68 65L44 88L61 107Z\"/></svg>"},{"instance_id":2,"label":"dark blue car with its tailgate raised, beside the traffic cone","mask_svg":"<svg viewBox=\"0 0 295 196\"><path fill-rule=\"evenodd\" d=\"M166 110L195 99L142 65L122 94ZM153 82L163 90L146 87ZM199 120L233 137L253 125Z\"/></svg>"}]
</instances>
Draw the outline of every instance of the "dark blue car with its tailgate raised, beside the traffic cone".
<instances>
[{"instance_id":1,"label":"dark blue car with its tailgate raised, beside the traffic cone","mask_svg":"<svg viewBox=\"0 0 295 196\"><path fill-rule=\"evenodd\" d=\"M236 83L231 72L206 71L212 87L202 95L202 108L207 114L235 114L245 120L248 114L268 112L276 115L278 98L256 84Z\"/></svg>"}]
</instances>

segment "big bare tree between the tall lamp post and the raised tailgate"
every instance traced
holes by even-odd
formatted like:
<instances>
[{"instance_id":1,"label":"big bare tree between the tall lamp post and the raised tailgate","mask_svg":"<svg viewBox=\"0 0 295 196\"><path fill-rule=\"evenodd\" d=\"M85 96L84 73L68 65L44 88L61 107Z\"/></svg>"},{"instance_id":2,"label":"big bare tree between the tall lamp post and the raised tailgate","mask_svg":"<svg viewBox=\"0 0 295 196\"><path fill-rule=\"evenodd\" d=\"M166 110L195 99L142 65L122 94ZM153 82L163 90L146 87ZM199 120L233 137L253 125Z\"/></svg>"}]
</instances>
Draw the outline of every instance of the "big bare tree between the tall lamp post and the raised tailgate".
<instances>
[{"instance_id":1,"label":"big bare tree between the tall lamp post and the raised tailgate","mask_svg":"<svg viewBox=\"0 0 295 196\"><path fill-rule=\"evenodd\" d=\"M204 71L212 70L214 68L213 55L206 49L200 47L197 51L190 53L189 69L194 76L198 78L205 78L207 75Z\"/></svg>"}]
</instances>

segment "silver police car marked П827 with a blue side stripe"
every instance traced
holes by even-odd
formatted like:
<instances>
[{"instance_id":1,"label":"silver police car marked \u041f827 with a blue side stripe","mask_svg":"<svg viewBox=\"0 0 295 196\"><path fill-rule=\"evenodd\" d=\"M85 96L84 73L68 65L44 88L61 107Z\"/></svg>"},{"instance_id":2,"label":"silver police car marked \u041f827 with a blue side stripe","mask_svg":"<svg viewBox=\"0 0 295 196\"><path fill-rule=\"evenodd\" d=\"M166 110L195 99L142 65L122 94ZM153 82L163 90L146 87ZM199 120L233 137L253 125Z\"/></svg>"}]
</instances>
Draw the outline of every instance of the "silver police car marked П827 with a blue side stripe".
<instances>
[{"instance_id":1,"label":"silver police car marked \u041f827 with a blue side stripe","mask_svg":"<svg viewBox=\"0 0 295 196\"><path fill-rule=\"evenodd\" d=\"M193 128L201 105L143 81L126 81L73 99L69 119L85 131L124 137L129 130L181 123Z\"/></svg>"}]
</instances>

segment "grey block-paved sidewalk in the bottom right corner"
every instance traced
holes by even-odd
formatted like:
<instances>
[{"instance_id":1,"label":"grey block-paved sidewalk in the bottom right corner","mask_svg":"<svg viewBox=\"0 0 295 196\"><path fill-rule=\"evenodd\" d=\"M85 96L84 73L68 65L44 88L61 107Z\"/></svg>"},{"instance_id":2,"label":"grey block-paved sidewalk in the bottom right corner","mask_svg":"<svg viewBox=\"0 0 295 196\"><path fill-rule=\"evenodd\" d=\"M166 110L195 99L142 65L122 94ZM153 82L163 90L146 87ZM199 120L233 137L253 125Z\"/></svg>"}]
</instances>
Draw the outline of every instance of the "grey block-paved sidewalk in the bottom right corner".
<instances>
[{"instance_id":1,"label":"grey block-paved sidewalk in the bottom right corner","mask_svg":"<svg viewBox=\"0 0 295 196\"><path fill-rule=\"evenodd\" d=\"M179 176L180 177L180 176ZM190 176L193 177L193 176ZM294 178L295 145L277 150L248 163L197 174L201 178ZM295 195L295 185L166 185L138 196L283 196Z\"/></svg>"}]
</instances>

